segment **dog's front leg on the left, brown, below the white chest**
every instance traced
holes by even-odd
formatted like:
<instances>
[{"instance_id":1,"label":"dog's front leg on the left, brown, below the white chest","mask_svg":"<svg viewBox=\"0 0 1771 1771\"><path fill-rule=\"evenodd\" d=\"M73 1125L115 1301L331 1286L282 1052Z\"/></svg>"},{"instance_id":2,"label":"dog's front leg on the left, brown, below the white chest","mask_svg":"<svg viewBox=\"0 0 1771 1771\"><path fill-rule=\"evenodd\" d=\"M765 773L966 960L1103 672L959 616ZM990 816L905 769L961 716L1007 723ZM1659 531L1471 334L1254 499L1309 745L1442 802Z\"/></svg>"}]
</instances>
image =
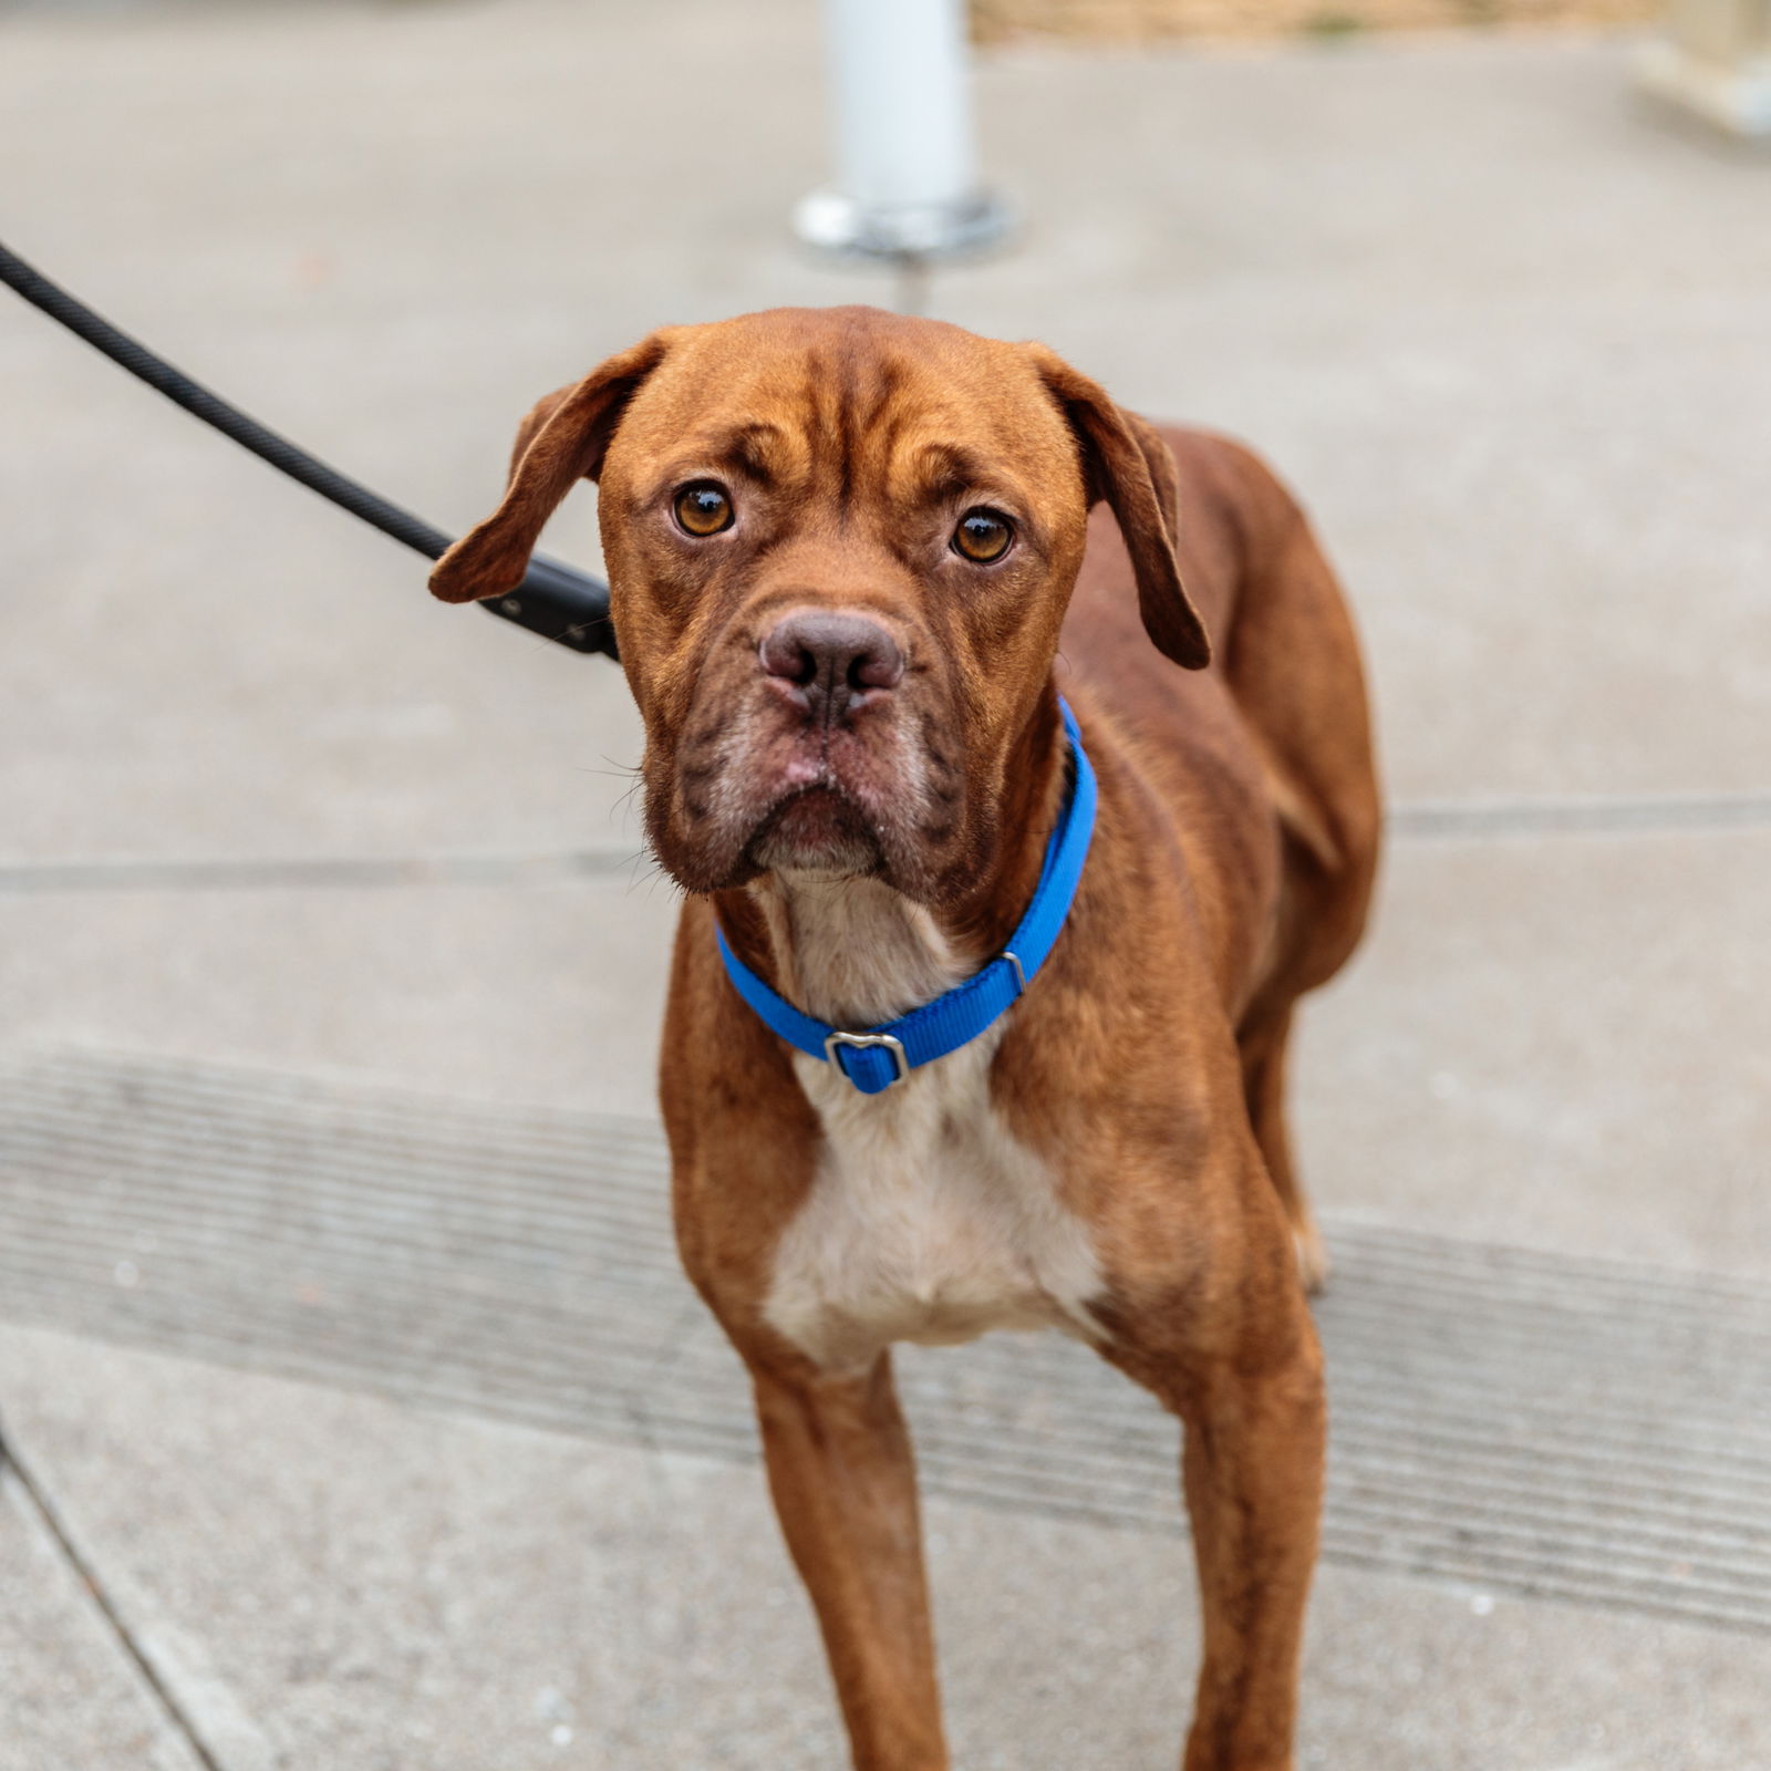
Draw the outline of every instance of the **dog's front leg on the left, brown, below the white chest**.
<instances>
[{"instance_id":1,"label":"dog's front leg on the left, brown, below the white chest","mask_svg":"<svg viewBox=\"0 0 1771 1771\"><path fill-rule=\"evenodd\" d=\"M855 1771L946 1771L916 1463L891 1357L862 1378L751 1367L769 1488L811 1592Z\"/></svg>"}]
</instances>

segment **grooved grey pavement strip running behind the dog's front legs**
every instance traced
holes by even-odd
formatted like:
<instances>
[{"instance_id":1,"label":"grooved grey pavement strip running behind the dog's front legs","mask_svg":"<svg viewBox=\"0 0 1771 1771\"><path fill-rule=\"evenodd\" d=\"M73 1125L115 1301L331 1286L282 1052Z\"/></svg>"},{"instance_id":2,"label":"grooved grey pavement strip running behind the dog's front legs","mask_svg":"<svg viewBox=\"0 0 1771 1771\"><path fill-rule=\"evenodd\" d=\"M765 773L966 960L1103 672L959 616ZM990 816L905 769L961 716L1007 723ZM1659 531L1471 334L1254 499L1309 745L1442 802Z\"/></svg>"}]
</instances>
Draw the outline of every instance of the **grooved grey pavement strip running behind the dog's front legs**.
<instances>
[{"instance_id":1,"label":"grooved grey pavement strip running behind the dog's front legs","mask_svg":"<svg viewBox=\"0 0 1771 1771\"><path fill-rule=\"evenodd\" d=\"M1325 1555L1771 1633L1771 1288L1328 1220ZM0 1314L754 1456L648 1121L58 1050L0 1068ZM932 1493L1179 1530L1084 1348L905 1350Z\"/></svg>"}]
</instances>

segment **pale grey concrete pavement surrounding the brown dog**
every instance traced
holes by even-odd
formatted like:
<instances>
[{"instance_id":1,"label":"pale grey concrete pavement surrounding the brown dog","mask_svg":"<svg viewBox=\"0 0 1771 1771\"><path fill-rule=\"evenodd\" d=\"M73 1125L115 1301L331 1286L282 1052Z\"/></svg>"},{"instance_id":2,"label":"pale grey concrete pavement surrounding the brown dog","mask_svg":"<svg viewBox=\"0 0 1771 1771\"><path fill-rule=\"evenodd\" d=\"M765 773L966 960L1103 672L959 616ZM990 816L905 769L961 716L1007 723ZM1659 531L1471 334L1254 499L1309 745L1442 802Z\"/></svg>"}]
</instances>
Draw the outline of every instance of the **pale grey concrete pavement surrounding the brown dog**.
<instances>
[{"instance_id":1,"label":"pale grey concrete pavement surrounding the brown dog","mask_svg":"<svg viewBox=\"0 0 1771 1771\"><path fill-rule=\"evenodd\" d=\"M910 264L793 221L866 234L893 18L0 0L0 237L453 530L540 393L781 303L1256 445L1394 831L1296 1077L1300 1762L1771 1764L1764 0L978 0L995 239ZM841 1762L669 1249L618 669L11 296L0 411L0 1767ZM1171 1764L1171 1426L1068 1344L901 1369L956 1762Z\"/></svg>"}]
</instances>

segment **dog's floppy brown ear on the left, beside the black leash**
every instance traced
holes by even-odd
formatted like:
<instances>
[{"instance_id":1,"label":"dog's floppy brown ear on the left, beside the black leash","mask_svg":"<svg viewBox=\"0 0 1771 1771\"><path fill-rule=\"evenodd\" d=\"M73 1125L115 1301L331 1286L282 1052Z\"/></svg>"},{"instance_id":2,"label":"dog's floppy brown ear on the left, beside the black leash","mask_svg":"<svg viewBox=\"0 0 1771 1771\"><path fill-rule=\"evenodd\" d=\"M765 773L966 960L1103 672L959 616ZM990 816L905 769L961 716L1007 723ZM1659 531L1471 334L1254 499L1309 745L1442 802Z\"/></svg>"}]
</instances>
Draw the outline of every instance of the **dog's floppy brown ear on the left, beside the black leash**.
<instances>
[{"instance_id":1,"label":"dog's floppy brown ear on the left, beside the black leash","mask_svg":"<svg viewBox=\"0 0 1771 1771\"><path fill-rule=\"evenodd\" d=\"M475 602L522 583L544 524L579 480L597 478L627 402L664 351L664 336L653 333L530 409L517 427L505 501L437 560L434 597Z\"/></svg>"}]
</instances>

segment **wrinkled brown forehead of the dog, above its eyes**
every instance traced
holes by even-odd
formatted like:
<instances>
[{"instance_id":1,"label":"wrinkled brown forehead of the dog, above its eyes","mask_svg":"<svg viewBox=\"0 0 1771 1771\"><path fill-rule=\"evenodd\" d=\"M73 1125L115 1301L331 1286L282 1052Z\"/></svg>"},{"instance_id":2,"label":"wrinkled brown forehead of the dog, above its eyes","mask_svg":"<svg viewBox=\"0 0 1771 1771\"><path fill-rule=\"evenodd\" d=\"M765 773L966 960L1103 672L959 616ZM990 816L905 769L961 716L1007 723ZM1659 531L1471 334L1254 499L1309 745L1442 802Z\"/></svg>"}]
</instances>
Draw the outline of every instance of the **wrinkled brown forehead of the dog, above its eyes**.
<instances>
[{"instance_id":1,"label":"wrinkled brown forehead of the dog, above its eyes","mask_svg":"<svg viewBox=\"0 0 1771 1771\"><path fill-rule=\"evenodd\" d=\"M875 308L673 329L622 414L604 496L645 501L692 473L839 505L978 492L1027 519L1082 485L1075 437L1022 347Z\"/></svg>"}]
</instances>

